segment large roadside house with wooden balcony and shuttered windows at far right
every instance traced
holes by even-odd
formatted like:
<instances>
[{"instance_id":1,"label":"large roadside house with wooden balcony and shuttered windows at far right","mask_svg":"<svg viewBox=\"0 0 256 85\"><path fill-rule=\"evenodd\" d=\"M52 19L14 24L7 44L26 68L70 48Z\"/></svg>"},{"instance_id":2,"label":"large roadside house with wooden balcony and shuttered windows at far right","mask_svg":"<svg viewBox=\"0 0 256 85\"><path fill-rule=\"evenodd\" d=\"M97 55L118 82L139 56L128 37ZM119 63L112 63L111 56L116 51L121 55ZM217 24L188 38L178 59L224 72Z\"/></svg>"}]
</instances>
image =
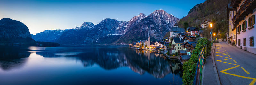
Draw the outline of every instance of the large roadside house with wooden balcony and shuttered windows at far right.
<instances>
[{"instance_id":1,"label":"large roadside house with wooden balcony and shuttered windows at far right","mask_svg":"<svg viewBox=\"0 0 256 85\"><path fill-rule=\"evenodd\" d=\"M256 36L255 3L255 0L232 0L227 9L229 23L232 23L229 25L229 32L230 29L237 32L232 31L229 33L229 37L234 33L235 37L232 36L232 41L237 42L236 46L254 54L256 54L256 46L254 46L254 37Z\"/></svg>"}]
</instances>

